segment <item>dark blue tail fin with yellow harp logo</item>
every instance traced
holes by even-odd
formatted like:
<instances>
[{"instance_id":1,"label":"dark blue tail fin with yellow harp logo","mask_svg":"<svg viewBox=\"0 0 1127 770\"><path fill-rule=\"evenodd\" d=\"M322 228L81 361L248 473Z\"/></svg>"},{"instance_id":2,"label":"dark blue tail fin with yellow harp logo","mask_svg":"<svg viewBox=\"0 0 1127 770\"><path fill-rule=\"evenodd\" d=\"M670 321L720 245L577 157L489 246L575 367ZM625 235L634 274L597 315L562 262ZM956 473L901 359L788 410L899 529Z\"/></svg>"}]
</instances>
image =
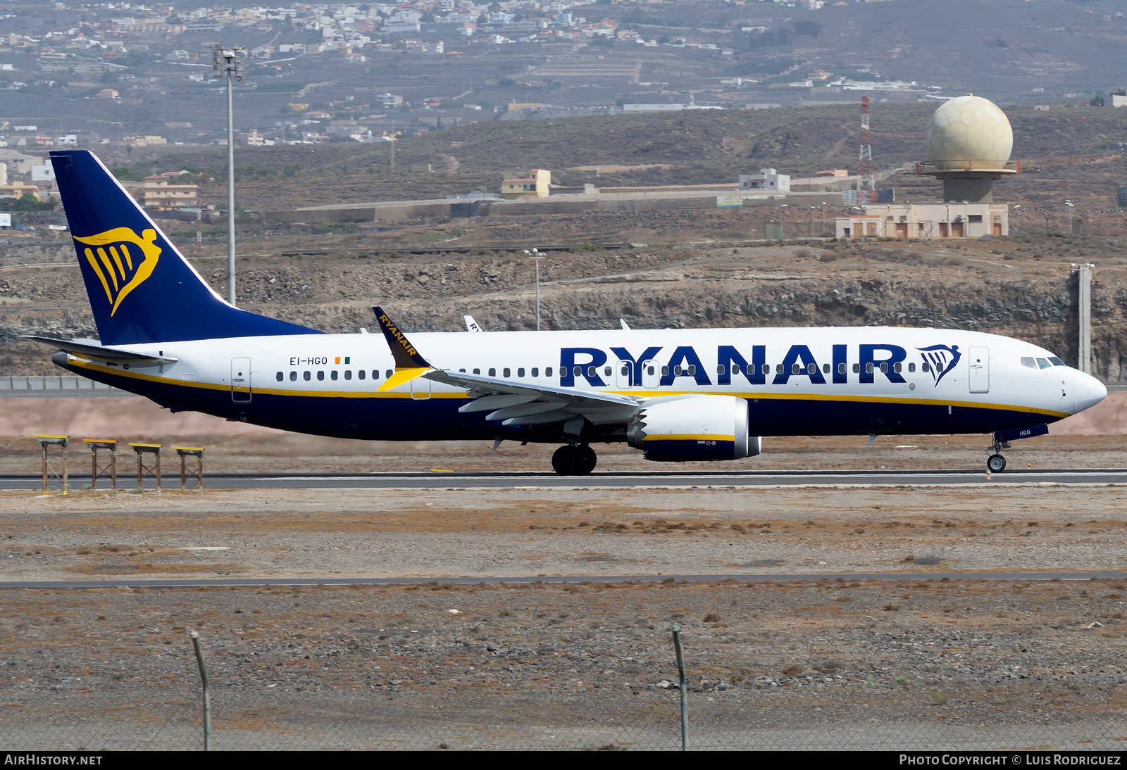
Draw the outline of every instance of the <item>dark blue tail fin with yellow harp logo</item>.
<instances>
[{"instance_id":1,"label":"dark blue tail fin with yellow harp logo","mask_svg":"<svg viewBox=\"0 0 1127 770\"><path fill-rule=\"evenodd\" d=\"M51 162L103 344L320 333L224 302L92 152Z\"/></svg>"}]
</instances>

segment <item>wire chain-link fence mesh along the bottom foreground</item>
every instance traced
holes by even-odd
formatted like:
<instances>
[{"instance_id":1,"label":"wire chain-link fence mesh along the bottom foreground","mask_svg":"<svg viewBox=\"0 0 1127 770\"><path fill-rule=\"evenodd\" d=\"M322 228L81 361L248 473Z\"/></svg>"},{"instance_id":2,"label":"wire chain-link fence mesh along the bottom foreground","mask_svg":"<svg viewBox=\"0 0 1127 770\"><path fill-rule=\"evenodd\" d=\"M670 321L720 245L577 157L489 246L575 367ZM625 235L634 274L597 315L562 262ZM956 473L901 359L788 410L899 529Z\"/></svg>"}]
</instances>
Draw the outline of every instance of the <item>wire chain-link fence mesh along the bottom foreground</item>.
<instances>
[{"instance_id":1,"label":"wire chain-link fence mesh along the bottom foreground","mask_svg":"<svg viewBox=\"0 0 1127 770\"><path fill-rule=\"evenodd\" d=\"M686 642L691 645L692 637ZM183 659L194 664L190 647ZM669 670L675 673L672 645ZM675 675L673 681L587 689L575 675L533 674L513 684L443 688L423 678L357 687L352 672L332 679L337 673L321 666L313 673L251 689L225 683L223 672L215 672L211 747L681 747ZM156 689L127 681L100 692L74 681L9 689L0 702L0 746L202 749L202 688L186 677L167 675L168 683ZM337 683L308 689L314 679ZM1118 674L1090 680L1094 698L1086 704L1079 702L1083 698L1075 682L1047 682L1013 671L938 687L897 679L904 678L823 671L729 682L690 671L689 749L1121 751L1127 745L1127 684L1112 681L1121 679Z\"/></svg>"}]
</instances>

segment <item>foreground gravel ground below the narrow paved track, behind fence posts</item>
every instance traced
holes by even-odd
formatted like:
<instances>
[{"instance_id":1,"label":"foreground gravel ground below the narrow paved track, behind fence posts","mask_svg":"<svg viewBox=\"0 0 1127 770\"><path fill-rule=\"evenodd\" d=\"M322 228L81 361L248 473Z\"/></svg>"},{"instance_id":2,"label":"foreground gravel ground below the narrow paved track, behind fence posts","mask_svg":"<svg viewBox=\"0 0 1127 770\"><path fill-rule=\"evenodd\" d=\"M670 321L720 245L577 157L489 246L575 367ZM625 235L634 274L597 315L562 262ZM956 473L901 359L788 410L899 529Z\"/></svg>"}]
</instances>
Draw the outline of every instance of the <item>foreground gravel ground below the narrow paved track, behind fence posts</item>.
<instances>
[{"instance_id":1,"label":"foreground gravel ground below the narrow paved track, behind fence posts","mask_svg":"<svg viewBox=\"0 0 1127 770\"><path fill-rule=\"evenodd\" d=\"M848 579L0 593L0 743L1115 747L1125 583ZM456 612L455 612L456 610Z\"/></svg>"}]
</instances>

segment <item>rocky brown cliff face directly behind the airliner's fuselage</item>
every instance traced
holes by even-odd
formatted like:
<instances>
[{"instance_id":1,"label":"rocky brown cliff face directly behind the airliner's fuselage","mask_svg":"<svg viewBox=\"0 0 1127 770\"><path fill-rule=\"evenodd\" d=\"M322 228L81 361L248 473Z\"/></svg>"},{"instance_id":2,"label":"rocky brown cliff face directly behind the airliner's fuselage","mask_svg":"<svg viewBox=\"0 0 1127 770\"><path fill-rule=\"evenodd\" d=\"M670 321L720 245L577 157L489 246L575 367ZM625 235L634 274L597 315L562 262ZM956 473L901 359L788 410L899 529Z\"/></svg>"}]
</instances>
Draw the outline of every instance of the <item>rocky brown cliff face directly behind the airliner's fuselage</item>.
<instances>
[{"instance_id":1,"label":"rocky brown cliff face directly behind the airliner's fuselage","mask_svg":"<svg viewBox=\"0 0 1127 770\"><path fill-rule=\"evenodd\" d=\"M579 251L542 262L544 329L913 325L1026 339L1076 362L1076 279L1067 257L1023 258L1012 244L953 251L793 247ZM523 256L521 256L523 257ZM44 260L46 261L46 260ZM77 266L0 271L0 375L51 374L47 352L16 339L96 337ZM221 294L221 260L197 268ZM240 306L331 332L372 328L383 305L408 331L534 329L533 268L517 256L248 258ZM1127 276L1093 280L1095 373L1127 379Z\"/></svg>"}]
</instances>

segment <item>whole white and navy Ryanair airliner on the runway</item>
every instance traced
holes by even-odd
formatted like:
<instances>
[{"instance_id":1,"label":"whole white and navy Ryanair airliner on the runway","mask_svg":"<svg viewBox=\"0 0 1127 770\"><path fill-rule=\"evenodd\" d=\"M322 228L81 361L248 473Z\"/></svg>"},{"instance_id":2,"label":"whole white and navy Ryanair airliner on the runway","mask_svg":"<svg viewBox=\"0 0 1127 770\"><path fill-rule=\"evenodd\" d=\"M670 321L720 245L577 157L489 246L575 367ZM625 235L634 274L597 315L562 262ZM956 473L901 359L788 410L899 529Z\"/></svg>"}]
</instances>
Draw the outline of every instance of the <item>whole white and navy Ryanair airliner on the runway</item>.
<instances>
[{"instance_id":1,"label":"whole white and navy Ryanair airliner on the runway","mask_svg":"<svg viewBox=\"0 0 1127 770\"><path fill-rule=\"evenodd\" d=\"M592 444L740 459L770 436L991 433L1001 449L1107 388L1048 350L946 329L787 328L325 334L225 303L87 151L51 153L99 340L36 337L71 371L283 430L380 440ZM468 325L479 331L472 319ZM495 445L496 446L496 445Z\"/></svg>"}]
</instances>

